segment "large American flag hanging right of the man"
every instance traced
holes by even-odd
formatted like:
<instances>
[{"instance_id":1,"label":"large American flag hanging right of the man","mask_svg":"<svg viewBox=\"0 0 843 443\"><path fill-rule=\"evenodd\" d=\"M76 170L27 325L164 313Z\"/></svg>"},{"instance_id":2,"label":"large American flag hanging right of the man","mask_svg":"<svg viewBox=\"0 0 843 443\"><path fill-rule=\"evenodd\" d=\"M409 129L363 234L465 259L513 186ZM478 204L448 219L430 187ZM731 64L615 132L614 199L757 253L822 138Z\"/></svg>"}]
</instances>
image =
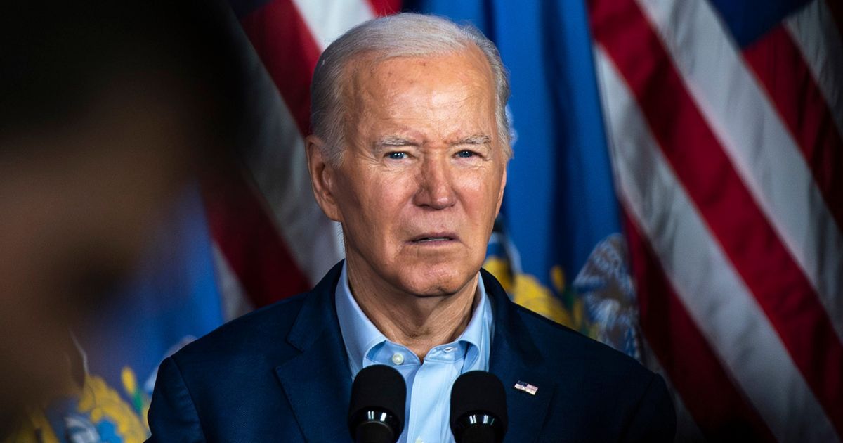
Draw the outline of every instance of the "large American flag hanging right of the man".
<instances>
[{"instance_id":1,"label":"large American flag hanging right of the man","mask_svg":"<svg viewBox=\"0 0 843 443\"><path fill-rule=\"evenodd\" d=\"M642 330L710 440L843 435L839 13L589 3Z\"/></svg>"}]
</instances>

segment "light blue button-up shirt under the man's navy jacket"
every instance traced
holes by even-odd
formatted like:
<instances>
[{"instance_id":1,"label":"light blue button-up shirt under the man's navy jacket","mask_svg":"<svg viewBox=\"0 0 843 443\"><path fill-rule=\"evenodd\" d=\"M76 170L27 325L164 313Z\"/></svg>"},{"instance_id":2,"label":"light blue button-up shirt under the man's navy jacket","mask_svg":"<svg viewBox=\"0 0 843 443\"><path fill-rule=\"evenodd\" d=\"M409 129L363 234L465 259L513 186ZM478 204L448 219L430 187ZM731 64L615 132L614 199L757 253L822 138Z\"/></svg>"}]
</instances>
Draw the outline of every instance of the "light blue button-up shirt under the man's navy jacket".
<instances>
[{"instance_id":1,"label":"light blue button-up shirt under the man's navy jacket","mask_svg":"<svg viewBox=\"0 0 843 443\"><path fill-rule=\"evenodd\" d=\"M494 323L483 278L478 278L480 302L462 335L432 348L421 363L409 348L384 337L357 305L348 286L346 264L336 285L336 315L346 344L352 377L368 365L389 365L404 375L407 402L399 443L453 442L448 424L451 386L470 370L489 370Z\"/></svg>"}]
</instances>

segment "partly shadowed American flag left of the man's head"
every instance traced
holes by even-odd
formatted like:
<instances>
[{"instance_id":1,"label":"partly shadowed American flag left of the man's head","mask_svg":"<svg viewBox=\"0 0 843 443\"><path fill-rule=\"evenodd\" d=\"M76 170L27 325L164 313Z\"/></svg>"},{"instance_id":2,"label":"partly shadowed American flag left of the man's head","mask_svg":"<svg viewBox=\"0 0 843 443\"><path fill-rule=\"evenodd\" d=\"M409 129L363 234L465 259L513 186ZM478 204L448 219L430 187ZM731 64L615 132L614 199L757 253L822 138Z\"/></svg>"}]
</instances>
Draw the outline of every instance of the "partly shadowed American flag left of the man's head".
<instances>
[{"instance_id":1,"label":"partly shadowed American flag left of the man's head","mask_svg":"<svg viewBox=\"0 0 843 443\"><path fill-rule=\"evenodd\" d=\"M309 290L343 257L338 224L317 206L304 157L310 77L330 41L393 13L387 0L232 1L253 106L242 162L205 181L226 316Z\"/></svg>"}]
</instances>

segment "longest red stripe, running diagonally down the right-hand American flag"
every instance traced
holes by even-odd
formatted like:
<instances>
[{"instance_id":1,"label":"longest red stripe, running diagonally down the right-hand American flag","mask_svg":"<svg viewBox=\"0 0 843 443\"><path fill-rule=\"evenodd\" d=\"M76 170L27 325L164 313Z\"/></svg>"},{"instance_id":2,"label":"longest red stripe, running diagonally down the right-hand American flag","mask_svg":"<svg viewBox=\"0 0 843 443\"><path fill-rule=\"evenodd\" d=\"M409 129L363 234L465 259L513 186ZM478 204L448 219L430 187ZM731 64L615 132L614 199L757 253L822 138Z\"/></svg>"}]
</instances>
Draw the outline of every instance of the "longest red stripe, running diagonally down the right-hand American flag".
<instances>
[{"instance_id":1,"label":"longest red stripe, running diagonally down the right-hand American flag","mask_svg":"<svg viewBox=\"0 0 843 443\"><path fill-rule=\"evenodd\" d=\"M817 294L734 170L641 9L632 0L593 0L589 10L593 34L636 96L675 175L843 435L843 344Z\"/></svg>"}]
</instances>

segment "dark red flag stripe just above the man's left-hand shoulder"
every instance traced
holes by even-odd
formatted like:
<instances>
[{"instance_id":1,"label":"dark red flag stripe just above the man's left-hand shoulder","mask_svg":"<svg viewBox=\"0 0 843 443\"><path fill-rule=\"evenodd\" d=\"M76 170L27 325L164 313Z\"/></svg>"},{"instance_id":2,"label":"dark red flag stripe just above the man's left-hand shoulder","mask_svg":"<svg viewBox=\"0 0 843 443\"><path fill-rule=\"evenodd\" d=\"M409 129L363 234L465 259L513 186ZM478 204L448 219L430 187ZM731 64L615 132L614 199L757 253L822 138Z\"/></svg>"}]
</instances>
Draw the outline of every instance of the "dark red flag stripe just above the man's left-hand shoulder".
<instances>
[{"instance_id":1,"label":"dark red flag stripe just above the man's left-hand shoulder","mask_svg":"<svg viewBox=\"0 0 843 443\"><path fill-rule=\"evenodd\" d=\"M211 234L250 300L260 307L309 290L310 283L252 187L235 174L202 181Z\"/></svg>"}]
</instances>

